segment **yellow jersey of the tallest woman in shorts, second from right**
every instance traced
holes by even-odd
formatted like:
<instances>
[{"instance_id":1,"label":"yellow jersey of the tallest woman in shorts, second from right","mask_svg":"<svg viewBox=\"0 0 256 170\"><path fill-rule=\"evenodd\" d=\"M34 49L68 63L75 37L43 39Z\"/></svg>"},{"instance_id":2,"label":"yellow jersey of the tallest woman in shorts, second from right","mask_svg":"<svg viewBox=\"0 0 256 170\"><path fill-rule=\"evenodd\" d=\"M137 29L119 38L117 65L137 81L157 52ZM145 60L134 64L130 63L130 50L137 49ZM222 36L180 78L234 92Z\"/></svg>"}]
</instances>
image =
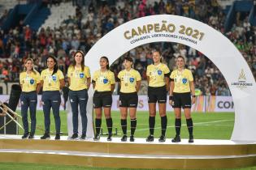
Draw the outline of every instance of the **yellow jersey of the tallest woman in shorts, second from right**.
<instances>
[{"instance_id":1,"label":"yellow jersey of the tallest woman in shorts, second from right","mask_svg":"<svg viewBox=\"0 0 256 170\"><path fill-rule=\"evenodd\" d=\"M170 70L167 65L159 63L158 66L151 64L146 68L146 76L150 77L150 87L163 87L166 83L164 82L164 75L170 74ZM168 75L169 76L169 75Z\"/></svg>"}]
</instances>

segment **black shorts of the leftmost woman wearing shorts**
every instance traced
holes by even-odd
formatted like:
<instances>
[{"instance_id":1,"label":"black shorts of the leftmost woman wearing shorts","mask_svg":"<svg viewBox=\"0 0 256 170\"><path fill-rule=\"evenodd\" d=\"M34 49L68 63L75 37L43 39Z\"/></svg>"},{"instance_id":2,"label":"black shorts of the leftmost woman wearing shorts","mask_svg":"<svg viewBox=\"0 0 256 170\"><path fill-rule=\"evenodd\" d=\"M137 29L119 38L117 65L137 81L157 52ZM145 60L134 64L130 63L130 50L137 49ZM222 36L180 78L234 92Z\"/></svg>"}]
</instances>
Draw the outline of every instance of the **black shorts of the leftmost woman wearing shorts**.
<instances>
[{"instance_id":1,"label":"black shorts of the leftmost woman wearing shorts","mask_svg":"<svg viewBox=\"0 0 256 170\"><path fill-rule=\"evenodd\" d=\"M93 108L111 108L111 91L95 91L93 94Z\"/></svg>"}]
</instances>

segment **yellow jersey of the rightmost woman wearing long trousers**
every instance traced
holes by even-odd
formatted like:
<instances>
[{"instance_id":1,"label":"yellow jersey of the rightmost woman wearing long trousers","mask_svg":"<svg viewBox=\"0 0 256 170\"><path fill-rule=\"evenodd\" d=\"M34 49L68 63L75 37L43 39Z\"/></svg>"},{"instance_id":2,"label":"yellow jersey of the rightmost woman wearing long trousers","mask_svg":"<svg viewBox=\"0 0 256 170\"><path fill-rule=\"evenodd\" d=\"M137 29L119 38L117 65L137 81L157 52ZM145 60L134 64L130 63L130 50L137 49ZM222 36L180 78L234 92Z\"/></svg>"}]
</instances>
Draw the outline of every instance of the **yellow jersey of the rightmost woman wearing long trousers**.
<instances>
[{"instance_id":1,"label":"yellow jersey of the rightmost woman wearing long trousers","mask_svg":"<svg viewBox=\"0 0 256 170\"><path fill-rule=\"evenodd\" d=\"M67 77L70 78L69 89L72 91L80 91L87 89L87 79L91 77L91 74L88 66L85 66L84 70L82 70L82 68L69 66Z\"/></svg>"}]
</instances>

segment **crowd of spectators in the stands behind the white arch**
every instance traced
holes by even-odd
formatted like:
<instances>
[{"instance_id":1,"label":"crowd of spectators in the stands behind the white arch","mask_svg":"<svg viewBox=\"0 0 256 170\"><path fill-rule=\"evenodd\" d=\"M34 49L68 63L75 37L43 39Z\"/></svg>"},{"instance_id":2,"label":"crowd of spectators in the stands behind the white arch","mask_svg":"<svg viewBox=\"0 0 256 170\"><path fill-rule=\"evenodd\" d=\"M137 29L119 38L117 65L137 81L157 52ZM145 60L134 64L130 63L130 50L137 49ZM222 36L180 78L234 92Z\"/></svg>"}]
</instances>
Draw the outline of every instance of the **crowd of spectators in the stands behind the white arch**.
<instances>
[{"instance_id":1,"label":"crowd of spectators in the stands behind the white arch","mask_svg":"<svg viewBox=\"0 0 256 170\"><path fill-rule=\"evenodd\" d=\"M152 5L146 5L146 0L91 1L88 7L79 6L80 3L76 1L73 4L77 5L76 15L63 20L59 28L41 28L39 32L34 32L29 25L20 21L8 32L0 30L0 81L17 82L24 60L28 57L33 58L36 69L41 72L46 67L49 53L58 57L60 69L67 74L72 54L77 49L86 53L102 36L120 24L158 14L186 16L219 30L241 51L256 78L256 28L249 24L248 17L237 14L232 29L224 32L226 15L215 0L168 0L167 3L160 0ZM145 68L152 63L153 49L161 49L164 62L171 70L176 57L183 56L186 65L193 70L195 87L202 95L231 96L218 68L202 53L188 46L170 42L152 43L132 49L122 57L132 57L134 67L145 79ZM118 59L111 66L115 75L121 70L120 62Z\"/></svg>"}]
</instances>

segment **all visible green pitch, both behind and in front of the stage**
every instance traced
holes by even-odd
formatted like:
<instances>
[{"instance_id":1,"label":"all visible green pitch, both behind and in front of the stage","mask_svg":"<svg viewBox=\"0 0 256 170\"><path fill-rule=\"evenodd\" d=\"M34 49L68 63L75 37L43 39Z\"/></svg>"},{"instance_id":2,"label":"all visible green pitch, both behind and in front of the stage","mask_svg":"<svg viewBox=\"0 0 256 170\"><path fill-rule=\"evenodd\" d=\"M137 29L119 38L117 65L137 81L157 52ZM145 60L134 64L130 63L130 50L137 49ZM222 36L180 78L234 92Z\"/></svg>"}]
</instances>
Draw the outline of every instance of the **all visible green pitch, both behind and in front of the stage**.
<instances>
[{"instance_id":1,"label":"all visible green pitch, both behind and in front of the stage","mask_svg":"<svg viewBox=\"0 0 256 170\"><path fill-rule=\"evenodd\" d=\"M20 113L18 111L18 113ZM60 113L61 116L61 131L64 134L67 134L67 113L62 111ZM232 135L232 130L234 126L234 113L193 113L193 125L194 125L194 138L195 140L200 139L229 139ZM115 128L117 128L118 134L114 137L120 137L122 135L121 126L120 126L120 116L119 112L113 112L113 125L114 132ZM135 136L137 138L146 138L149 134L148 129L148 117L149 113L147 112L137 112L137 131ZM167 125L167 138L172 138L175 135L174 129L174 113L167 113L168 117L168 125ZM128 119L129 120L129 119ZM21 120L19 120L21 122ZM42 111L37 111L37 126L41 129L44 129L44 119ZM128 121L129 125L129 121ZM106 121L105 118L102 117L102 129L103 133L106 133ZM51 114L51 125L50 130L54 132L54 117ZM129 127L128 127L129 130ZM154 136L158 138L160 135L161 126L160 126L160 117L157 115L156 124L155 124L155 133ZM44 132L41 130L37 130L36 134L41 135ZM23 131L20 130L20 134L23 134ZM129 131L128 131L129 135ZM188 130L186 128L186 122L184 119L184 115L182 117L182 128L181 128L181 138L188 138ZM80 167L80 166L66 166L66 165L53 165L53 164L13 164L13 163L0 163L0 170L14 170L14 169L63 169L63 170L73 170L73 169L88 169L88 170L98 170L98 169L127 169L128 168L88 168L88 167ZM256 169L256 167L249 168L233 168L236 170L249 170ZM217 169L215 169L217 170ZM224 169L218 169L224 170Z\"/></svg>"}]
</instances>

